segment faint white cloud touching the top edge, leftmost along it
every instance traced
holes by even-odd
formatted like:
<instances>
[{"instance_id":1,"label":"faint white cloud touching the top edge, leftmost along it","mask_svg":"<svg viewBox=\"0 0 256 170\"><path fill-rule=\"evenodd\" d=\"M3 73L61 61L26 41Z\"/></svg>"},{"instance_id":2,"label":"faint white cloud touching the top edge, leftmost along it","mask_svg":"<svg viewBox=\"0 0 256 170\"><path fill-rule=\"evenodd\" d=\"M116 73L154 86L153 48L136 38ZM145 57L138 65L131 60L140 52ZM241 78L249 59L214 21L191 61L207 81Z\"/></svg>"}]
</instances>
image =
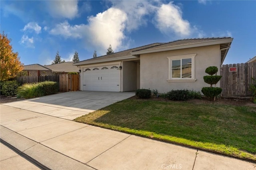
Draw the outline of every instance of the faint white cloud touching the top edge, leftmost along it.
<instances>
[{"instance_id":1,"label":"faint white cloud touching the top edge, leftmost along it","mask_svg":"<svg viewBox=\"0 0 256 170\"><path fill-rule=\"evenodd\" d=\"M52 0L47 1L48 11L54 18L72 19L78 14L77 0Z\"/></svg>"}]
</instances>

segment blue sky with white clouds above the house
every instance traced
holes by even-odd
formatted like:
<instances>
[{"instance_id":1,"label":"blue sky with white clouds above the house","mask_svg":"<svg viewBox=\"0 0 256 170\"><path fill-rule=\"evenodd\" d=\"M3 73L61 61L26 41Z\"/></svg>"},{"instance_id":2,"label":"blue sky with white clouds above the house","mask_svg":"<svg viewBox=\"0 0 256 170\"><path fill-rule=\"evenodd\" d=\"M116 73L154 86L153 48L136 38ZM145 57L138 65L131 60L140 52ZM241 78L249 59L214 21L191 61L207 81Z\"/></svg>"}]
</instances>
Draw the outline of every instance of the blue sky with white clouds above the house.
<instances>
[{"instance_id":1,"label":"blue sky with white clouds above the house","mask_svg":"<svg viewBox=\"0 0 256 170\"><path fill-rule=\"evenodd\" d=\"M1 0L1 32L24 65L80 61L154 42L231 36L224 64L256 55L256 1Z\"/></svg>"}]
</instances>

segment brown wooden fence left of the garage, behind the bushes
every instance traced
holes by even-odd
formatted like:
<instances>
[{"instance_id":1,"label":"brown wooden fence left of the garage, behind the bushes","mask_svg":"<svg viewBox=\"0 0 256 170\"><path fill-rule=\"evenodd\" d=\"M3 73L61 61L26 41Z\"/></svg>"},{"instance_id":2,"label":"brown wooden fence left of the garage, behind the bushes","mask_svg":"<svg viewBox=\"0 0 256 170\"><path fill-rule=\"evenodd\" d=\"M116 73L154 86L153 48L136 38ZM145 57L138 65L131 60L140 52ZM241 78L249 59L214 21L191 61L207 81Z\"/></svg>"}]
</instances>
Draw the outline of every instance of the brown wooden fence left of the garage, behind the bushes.
<instances>
[{"instance_id":1,"label":"brown wooden fence left of the garage, behind the bushes","mask_svg":"<svg viewBox=\"0 0 256 170\"><path fill-rule=\"evenodd\" d=\"M56 81L60 85L60 92L78 91L79 90L79 74L60 74L47 76L22 76L16 80L20 84L37 83L42 81Z\"/></svg>"}]
</instances>

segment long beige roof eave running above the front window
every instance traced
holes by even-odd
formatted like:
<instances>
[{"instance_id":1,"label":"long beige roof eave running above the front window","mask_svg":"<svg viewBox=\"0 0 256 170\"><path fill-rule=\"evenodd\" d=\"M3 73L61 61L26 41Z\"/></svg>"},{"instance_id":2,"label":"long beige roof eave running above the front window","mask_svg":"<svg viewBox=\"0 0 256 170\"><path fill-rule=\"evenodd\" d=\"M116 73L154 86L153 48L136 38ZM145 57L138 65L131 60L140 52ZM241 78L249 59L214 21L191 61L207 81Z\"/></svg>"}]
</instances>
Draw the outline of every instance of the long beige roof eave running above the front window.
<instances>
[{"instance_id":1,"label":"long beige roof eave running above the front window","mask_svg":"<svg viewBox=\"0 0 256 170\"><path fill-rule=\"evenodd\" d=\"M172 45L167 47L160 47L160 48L154 48L154 49L144 49L140 51L134 51L131 52L132 55L140 55L145 53L154 53L154 52L160 52L160 51L170 51L174 49L184 49L184 48L192 48L192 47L201 47L206 45L216 45L216 44L222 44L222 43L231 43L233 38L226 38L226 39L220 39L220 40L210 40L206 42L195 42L195 43L188 43L188 44L180 44L180 45Z\"/></svg>"}]
</instances>

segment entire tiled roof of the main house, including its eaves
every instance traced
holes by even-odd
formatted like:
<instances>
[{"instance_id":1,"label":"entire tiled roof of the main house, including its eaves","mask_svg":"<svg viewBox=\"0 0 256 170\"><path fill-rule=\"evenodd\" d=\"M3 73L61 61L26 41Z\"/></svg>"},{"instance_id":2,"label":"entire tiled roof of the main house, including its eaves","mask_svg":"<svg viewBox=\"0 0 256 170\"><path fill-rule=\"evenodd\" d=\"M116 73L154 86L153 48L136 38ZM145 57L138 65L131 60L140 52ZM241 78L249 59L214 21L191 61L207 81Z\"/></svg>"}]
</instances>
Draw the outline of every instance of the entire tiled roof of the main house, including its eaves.
<instances>
[{"instance_id":1,"label":"entire tiled roof of the main house, including its eaves","mask_svg":"<svg viewBox=\"0 0 256 170\"><path fill-rule=\"evenodd\" d=\"M215 45L220 44L221 50L221 63L223 63L226 54L228 53L228 49L230 48L231 42L233 38L231 37L212 37L212 38L194 38L194 39L184 39L184 40L176 40L173 42L167 43L152 43L149 45L144 45L141 47L136 47L132 49L128 49L125 51L120 51L117 53L113 53L110 55L103 55L100 57L87 59L84 61L80 61L74 63L73 65L83 65L83 64L92 64L92 63L100 63L105 61L116 61L121 59L132 59L137 58L140 54L143 53L153 53L159 51L169 51L174 49L184 49L190 47L200 47L206 45Z\"/></svg>"}]
</instances>

